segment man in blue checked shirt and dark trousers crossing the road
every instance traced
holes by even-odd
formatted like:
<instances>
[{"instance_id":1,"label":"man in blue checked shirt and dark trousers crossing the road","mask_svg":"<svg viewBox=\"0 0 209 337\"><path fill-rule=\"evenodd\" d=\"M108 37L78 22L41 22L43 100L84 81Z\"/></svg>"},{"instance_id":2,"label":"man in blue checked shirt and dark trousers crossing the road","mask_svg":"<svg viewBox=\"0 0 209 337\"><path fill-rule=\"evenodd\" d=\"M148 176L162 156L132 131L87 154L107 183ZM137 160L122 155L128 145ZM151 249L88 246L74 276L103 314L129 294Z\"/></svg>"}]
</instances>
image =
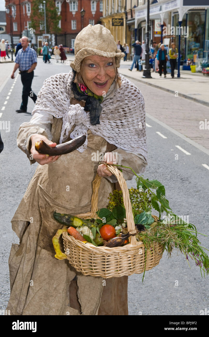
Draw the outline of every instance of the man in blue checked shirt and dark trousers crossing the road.
<instances>
[{"instance_id":1,"label":"man in blue checked shirt and dark trousers crossing the road","mask_svg":"<svg viewBox=\"0 0 209 337\"><path fill-rule=\"evenodd\" d=\"M29 39L27 36L21 38L22 49L20 49L15 58L14 70L11 78L14 79L14 73L19 68L21 74L21 81L23 83L22 103L16 112L26 112L28 105L28 96L32 98L34 103L37 96L31 89L31 84L34 76L34 69L37 66L37 56L34 49L29 47Z\"/></svg>"}]
</instances>

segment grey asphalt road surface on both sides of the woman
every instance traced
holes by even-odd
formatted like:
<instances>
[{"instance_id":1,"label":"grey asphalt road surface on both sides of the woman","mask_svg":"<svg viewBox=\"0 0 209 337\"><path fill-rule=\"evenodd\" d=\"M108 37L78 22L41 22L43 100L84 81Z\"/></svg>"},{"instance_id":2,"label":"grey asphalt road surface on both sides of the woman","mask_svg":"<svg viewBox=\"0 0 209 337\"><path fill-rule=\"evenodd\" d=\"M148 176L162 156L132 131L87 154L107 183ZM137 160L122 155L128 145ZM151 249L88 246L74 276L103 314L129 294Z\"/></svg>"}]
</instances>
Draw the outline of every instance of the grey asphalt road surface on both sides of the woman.
<instances>
[{"instance_id":1,"label":"grey asphalt road surface on both sides of the woman","mask_svg":"<svg viewBox=\"0 0 209 337\"><path fill-rule=\"evenodd\" d=\"M32 84L33 91L38 94L44 80L49 76L68 72L69 65L43 64L38 59L37 70ZM149 100L162 96L163 104L172 104L171 98L165 92L154 89L155 97L149 96L149 86L133 81L144 94L145 108L149 114ZM20 76L12 86L9 79L0 97L1 121L10 121L10 132L1 130L4 150L0 155L1 167L1 281L0 309L5 309L10 292L8 257L12 243L18 243L18 238L11 229L10 220L18 207L26 188L35 172L37 164L30 165L26 155L17 148L16 135L19 125L29 121L34 103L30 99L28 112L17 114L16 109L21 103L22 84ZM13 88L11 88L13 87ZM11 91L10 91L11 90ZM11 92L10 95L8 93ZM9 96L9 98L7 98ZM7 101L6 104L4 102ZM183 99L187 105L187 100ZM174 102L173 102L174 103ZM5 106L4 110L2 106ZM156 106L156 109L160 107ZM201 104L198 113L201 115ZM152 118L147 117L148 167L145 178L158 179L165 185L166 196L173 211L178 215L189 216L189 222L194 223L200 233L209 235L208 229L208 179L209 170L202 164L209 165L209 157L198 148L187 143L167 128L161 126ZM161 135L157 132L160 132ZM164 137L167 138L163 138ZM190 153L184 153L177 148ZM177 158L178 155L178 159ZM127 182L128 187L135 187L135 179ZM208 237L200 236L202 246L209 249ZM201 278L199 267L190 260L191 269L181 253L173 251L168 258L164 252L158 266L145 272L142 284L142 274L129 277L128 302L129 315L199 315L200 310L209 309L208 277ZM178 281L178 286L175 284Z\"/></svg>"}]
</instances>

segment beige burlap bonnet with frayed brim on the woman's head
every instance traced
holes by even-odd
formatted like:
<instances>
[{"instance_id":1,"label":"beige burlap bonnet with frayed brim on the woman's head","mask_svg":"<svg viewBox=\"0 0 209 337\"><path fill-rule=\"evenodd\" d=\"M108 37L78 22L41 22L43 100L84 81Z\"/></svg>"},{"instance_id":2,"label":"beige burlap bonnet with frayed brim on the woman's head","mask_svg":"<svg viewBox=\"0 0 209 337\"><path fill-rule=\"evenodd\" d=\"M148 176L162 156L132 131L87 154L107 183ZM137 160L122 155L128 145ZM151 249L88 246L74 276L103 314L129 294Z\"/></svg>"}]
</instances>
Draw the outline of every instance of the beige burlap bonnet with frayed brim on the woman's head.
<instances>
[{"instance_id":1,"label":"beige burlap bonnet with frayed brim on the woman's head","mask_svg":"<svg viewBox=\"0 0 209 337\"><path fill-rule=\"evenodd\" d=\"M87 56L115 57L117 68L120 67L120 59L125 56L120 49L117 49L110 30L102 25L88 25L83 28L76 36L74 48L75 59L70 65L77 72L80 71L81 61Z\"/></svg>"}]
</instances>

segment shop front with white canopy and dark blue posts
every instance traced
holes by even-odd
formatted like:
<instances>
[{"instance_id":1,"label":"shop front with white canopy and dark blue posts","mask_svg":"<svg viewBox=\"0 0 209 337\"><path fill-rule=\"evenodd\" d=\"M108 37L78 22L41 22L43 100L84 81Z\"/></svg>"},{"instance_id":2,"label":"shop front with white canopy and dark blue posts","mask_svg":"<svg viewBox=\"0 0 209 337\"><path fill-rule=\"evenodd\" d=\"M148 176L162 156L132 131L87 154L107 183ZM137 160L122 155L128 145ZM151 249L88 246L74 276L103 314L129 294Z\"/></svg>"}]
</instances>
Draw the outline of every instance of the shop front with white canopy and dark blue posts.
<instances>
[{"instance_id":1,"label":"shop front with white canopy and dark blue posts","mask_svg":"<svg viewBox=\"0 0 209 337\"><path fill-rule=\"evenodd\" d=\"M135 8L135 28L146 18L146 5ZM162 0L150 6L150 20L154 19L159 21L158 27L161 23L161 42L167 38L168 47L171 47L171 42L174 41L180 50L181 61L191 59L192 62L199 62L200 67L201 60L206 57L205 43L209 40L209 1Z\"/></svg>"}]
</instances>

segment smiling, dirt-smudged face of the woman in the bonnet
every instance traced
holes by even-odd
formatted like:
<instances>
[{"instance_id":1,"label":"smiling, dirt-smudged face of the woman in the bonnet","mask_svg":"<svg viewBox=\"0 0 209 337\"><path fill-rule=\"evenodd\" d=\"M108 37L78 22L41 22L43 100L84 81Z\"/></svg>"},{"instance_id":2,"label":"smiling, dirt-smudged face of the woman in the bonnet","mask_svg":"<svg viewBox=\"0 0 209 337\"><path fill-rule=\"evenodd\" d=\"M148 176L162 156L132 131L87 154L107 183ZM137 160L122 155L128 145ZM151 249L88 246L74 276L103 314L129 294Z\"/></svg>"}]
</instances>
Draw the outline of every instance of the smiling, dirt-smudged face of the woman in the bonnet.
<instances>
[{"instance_id":1,"label":"smiling, dirt-smudged face of the woman in the bonnet","mask_svg":"<svg viewBox=\"0 0 209 337\"><path fill-rule=\"evenodd\" d=\"M115 60L111 57L87 56L81 66L84 84L94 94L102 96L107 93L116 76Z\"/></svg>"}]
</instances>

